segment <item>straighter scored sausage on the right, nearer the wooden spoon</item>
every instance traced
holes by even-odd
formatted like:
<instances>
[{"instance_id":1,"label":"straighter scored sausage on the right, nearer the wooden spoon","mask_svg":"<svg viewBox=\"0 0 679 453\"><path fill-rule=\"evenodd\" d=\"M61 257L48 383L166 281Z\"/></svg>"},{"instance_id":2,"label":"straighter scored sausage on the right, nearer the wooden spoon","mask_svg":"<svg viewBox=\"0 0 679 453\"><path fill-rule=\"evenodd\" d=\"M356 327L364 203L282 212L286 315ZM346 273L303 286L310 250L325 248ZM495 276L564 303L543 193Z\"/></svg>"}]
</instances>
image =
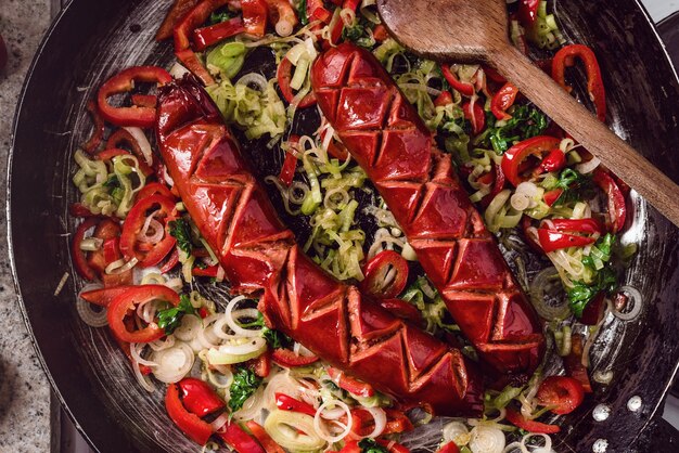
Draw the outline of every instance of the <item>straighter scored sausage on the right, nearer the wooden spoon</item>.
<instances>
[{"instance_id":1,"label":"straighter scored sausage on the right, nearer the wooden spoon","mask_svg":"<svg viewBox=\"0 0 679 453\"><path fill-rule=\"evenodd\" d=\"M450 155L372 53L343 43L311 69L318 105L375 184L481 358L525 377L545 352L533 307L454 174Z\"/></svg>"}]
</instances>

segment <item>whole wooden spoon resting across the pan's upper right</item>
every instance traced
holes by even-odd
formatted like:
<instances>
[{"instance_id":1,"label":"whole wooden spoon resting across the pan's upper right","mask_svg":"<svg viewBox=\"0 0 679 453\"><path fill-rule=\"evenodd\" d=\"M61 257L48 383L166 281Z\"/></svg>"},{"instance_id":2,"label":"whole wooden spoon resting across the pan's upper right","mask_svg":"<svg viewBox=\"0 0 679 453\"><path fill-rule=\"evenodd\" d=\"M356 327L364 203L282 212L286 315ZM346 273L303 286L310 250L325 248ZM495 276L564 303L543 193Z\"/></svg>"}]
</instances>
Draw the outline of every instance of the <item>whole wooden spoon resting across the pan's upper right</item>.
<instances>
[{"instance_id":1,"label":"whole wooden spoon resting across the pan's upper right","mask_svg":"<svg viewBox=\"0 0 679 453\"><path fill-rule=\"evenodd\" d=\"M377 0L377 9L414 53L494 67L679 226L679 186L510 43L505 0Z\"/></svg>"}]
</instances>

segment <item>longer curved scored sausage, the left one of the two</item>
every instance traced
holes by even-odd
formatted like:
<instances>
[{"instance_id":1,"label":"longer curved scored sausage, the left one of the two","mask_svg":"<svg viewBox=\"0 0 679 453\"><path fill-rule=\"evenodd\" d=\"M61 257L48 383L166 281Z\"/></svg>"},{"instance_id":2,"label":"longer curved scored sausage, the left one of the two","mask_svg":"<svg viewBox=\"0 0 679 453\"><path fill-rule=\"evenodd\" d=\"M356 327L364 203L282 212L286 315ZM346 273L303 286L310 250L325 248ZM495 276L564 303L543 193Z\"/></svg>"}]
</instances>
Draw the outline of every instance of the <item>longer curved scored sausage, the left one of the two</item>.
<instances>
[{"instance_id":1,"label":"longer curved scored sausage, the left one of the two","mask_svg":"<svg viewBox=\"0 0 679 453\"><path fill-rule=\"evenodd\" d=\"M405 405L481 414L481 378L458 349L335 281L304 255L194 78L161 87L157 115L161 154L187 210L233 292L260 296L270 327Z\"/></svg>"}]
</instances>

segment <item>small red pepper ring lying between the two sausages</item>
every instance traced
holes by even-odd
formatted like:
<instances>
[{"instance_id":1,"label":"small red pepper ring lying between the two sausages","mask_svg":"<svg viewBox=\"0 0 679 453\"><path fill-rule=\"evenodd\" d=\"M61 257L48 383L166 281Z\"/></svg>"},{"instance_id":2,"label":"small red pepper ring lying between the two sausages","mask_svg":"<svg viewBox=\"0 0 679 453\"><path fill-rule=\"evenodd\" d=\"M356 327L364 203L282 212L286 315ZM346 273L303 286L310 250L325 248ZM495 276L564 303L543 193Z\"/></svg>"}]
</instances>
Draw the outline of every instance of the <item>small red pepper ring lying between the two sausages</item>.
<instances>
[{"instance_id":1,"label":"small red pepper ring lying between the two sausages","mask_svg":"<svg viewBox=\"0 0 679 453\"><path fill-rule=\"evenodd\" d=\"M384 286L384 277L394 269L396 276ZM384 250L375 255L363 272L366 279L361 282L361 290L379 299L393 299L406 288L408 283L408 261L394 250Z\"/></svg>"}]
</instances>

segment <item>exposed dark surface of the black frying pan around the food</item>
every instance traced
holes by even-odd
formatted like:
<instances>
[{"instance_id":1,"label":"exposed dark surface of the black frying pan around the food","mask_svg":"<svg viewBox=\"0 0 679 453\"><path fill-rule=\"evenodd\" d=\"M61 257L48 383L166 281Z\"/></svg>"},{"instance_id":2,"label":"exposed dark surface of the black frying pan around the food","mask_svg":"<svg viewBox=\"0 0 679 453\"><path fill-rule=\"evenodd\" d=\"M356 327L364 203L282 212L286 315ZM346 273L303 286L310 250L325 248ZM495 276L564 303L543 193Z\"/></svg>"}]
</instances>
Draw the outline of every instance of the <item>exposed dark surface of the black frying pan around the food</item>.
<instances>
[{"instance_id":1,"label":"exposed dark surface of the black frying pan around the food","mask_svg":"<svg viewBox=\"0 0 679 453\"><path fill-rule=\"evenodd\" d=\"M67 206L75 199L72 154L90 128L85 105L98 83L120 68L171 61L170 46L152 39L169 3L72 1L36 55L14 124L8 221L20 308L64 410L101 452L195 451L167 419L161 392L141 389L104 329L79 320L74 305L79 283L68 279L54 296L64 272L74 275ZM612 128L679 182L672 154L679 143L679 81L643 8L636 0L568 0L558 1L556 12L567 38L592 46L600 57ZM266 73L272 66L264 55L252 69ZM244 147L255 168L280 165L261 143ZM611 370L613 381L598 385L592 398L561 420L559 452L603 451L604 444L608 452L678 451L677 432L659 412L679 362L679 231L633 194L630 210L624 240L638 243L639 254L625 283L643 294L644 310L631 323L606 320L592 364L594 371ZM628 409L632 397L641 401L636 411ZM611 410L603 422L592 417L598 404Z\"/></svg>"}]
</instances>

